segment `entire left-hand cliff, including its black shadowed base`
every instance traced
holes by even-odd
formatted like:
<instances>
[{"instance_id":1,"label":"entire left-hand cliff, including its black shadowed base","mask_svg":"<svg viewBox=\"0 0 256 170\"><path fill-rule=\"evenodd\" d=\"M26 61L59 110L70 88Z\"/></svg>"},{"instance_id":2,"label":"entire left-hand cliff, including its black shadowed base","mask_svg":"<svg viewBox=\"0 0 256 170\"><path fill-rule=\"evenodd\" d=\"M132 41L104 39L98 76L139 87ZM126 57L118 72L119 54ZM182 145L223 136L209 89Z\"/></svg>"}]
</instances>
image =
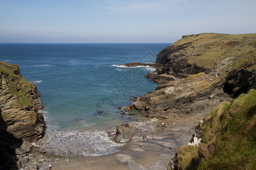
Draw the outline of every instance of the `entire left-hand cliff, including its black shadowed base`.
<instances>
[{"instance_id":1,"label":"entire left-hand cliff, including its black shadowed base","mask_svg":"<svg viewBox=\"0 0 256 170\"><path fill-rule=\"evenodd\" d=\"M12 164L15 169L15 155L29 151L22 143L34 142L45 134L39 109L43 105L35 84L20 75L18 65L0 62L0 169Z\"/></svg>"}]
</instances>

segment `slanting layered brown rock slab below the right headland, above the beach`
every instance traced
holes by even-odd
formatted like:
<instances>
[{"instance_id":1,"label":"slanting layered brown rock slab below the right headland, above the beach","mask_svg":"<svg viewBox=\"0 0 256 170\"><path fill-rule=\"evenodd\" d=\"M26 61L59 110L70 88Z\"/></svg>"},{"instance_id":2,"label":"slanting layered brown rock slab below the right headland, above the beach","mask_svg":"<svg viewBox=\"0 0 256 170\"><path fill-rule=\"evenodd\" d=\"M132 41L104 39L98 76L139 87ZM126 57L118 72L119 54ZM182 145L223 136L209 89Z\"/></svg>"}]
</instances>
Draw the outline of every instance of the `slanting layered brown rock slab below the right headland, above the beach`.
<instances>
[{"instance_id":1,"label":"slanting layered brown rock slab below the right headland, above the beach","mask_svg":"<svg viewBox=\"0 0 256 170\"><path fill-rule=\"evenodd\" d=\"M225 82L222 79L208 81L209 77L200 73L161 84L156 91L138 97L134 101L135 108L146 112L143 116L147 117L204 111L207 103L202 105L203 99L208 99L213 91L216 95L224 94L222 87Z\"/></svg>"}]
</instances>

